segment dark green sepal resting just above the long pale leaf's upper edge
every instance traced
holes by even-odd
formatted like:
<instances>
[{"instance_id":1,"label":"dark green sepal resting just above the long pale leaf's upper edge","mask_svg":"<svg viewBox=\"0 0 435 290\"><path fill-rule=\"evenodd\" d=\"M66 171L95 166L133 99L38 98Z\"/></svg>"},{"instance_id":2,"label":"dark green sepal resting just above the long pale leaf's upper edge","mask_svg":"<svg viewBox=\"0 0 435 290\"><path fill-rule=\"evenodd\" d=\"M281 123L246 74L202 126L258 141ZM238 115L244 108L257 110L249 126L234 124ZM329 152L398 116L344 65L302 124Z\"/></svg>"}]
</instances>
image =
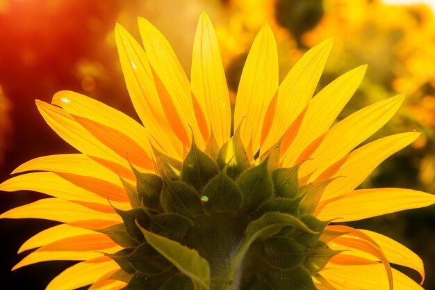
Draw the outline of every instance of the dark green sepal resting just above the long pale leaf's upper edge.
<instances>
[{"instance_id":1,"label":"dark green sepal resting just above the long pale leaf's upper edge","mask_svg":"<svg viewBox=\"0 0 435 290\"><path fill-rule=\"evenodd\" d=\"M186 236L190 227L193 226L192 220L180 214L167 213L156 216L149 214L148 216L151 220L149 225L151 232L160 236L166 236L174 241L181 241Z\"/></svg>"}]
</instances>

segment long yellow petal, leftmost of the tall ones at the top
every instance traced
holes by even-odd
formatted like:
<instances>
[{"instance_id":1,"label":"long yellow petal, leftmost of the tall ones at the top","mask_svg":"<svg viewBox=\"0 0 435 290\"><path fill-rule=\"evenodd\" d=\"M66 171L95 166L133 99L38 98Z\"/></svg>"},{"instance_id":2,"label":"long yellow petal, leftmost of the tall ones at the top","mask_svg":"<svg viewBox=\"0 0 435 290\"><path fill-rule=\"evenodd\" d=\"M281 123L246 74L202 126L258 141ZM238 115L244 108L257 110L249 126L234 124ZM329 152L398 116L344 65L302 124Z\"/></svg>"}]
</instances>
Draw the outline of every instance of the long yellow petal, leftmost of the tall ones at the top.
<instances>
[{"instance_id":1,"label":"long yellow petal, leftmost of the tall ones at the top","mask_svg":"<svg viewBox=\"0 0 435 290\"><path fill-rule=\"evenodd\" d=\"M167 122L147 54L120 24L115 28L115 40L131 102L151 138L164 146L156 142L153 144L161 152L181 159L183 145Z\"/></svg>"}]
</instances>

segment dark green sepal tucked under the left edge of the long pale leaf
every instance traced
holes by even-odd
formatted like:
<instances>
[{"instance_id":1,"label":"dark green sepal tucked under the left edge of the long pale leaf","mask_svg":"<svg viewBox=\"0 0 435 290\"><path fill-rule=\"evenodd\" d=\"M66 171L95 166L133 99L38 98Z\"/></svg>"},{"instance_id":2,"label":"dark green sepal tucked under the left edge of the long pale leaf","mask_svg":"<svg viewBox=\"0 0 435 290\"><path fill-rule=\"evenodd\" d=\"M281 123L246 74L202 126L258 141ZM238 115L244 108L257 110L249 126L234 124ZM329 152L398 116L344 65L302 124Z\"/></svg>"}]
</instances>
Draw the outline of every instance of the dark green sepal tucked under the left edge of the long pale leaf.
<instances>
[{"instance_id":1,"label":"dark green sepal tucked under the left edge of the long pale leaf","mask_svg":"<svg viewBox=\"0 0 435 290\"><path fill-rule=\"evenodd\" d=\"M173 268L170 261L167 261L148 243L142 243L130 255L121 259L129 261L138 273L145 276L160 275Z\"/></svg>"}]
</instances>

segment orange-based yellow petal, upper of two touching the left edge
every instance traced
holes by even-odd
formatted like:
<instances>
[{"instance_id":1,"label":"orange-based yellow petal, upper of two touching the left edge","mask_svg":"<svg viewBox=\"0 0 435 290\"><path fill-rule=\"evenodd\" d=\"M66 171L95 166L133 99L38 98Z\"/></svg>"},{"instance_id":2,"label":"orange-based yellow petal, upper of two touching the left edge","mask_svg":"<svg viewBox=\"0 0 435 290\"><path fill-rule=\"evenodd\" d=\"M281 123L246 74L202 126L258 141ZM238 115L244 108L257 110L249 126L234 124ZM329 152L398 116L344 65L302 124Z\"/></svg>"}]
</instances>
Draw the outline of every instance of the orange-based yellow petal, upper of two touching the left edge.
<instances>
[{"instance_id":1,"label":"orange-based yellow petal, upper of two touching the left edge","mask_svg":"<svg viewBox=\"0 0 435 290\"><path fill-rule=\"evenodd\" d=\"M90 202L108 207L113 200L115 207L128 208L124 189L101 179L70 173L31 172L18 175L0 184L1 191L38 191L73 202Z\"/></svg>"}]
</instances>

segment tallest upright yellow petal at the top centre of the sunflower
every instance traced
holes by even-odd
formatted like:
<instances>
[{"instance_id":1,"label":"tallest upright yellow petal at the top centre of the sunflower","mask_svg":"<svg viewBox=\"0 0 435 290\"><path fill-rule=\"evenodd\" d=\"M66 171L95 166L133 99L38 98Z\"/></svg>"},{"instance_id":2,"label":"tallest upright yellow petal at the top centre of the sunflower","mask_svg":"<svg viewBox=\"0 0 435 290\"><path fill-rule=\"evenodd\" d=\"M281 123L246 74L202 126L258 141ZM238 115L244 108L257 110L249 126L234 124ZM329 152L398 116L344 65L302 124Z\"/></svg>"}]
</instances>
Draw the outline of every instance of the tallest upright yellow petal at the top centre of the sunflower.
<instances>
[{"instance_id":1,"label":"tallest upright yellow petal at the top centre of the sunflower","mask_svg":"<svg viewBox=\"0 0 435 290\"><path fill-rule=\"evenodd\" d=\"M193 42L190 81L192 93L221 147L231 130L229 94L216 33L204 12L199 17Z\"/></svg>"}]
</instances>

